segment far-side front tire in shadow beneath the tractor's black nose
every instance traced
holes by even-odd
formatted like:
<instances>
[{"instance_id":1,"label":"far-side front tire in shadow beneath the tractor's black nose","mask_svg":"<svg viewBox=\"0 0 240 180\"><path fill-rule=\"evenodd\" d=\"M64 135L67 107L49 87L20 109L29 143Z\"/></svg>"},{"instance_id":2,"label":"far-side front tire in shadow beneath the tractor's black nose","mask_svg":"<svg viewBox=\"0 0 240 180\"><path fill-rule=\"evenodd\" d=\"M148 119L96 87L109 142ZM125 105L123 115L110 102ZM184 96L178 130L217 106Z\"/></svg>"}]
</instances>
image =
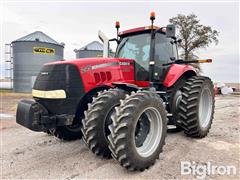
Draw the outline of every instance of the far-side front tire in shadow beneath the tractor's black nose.
<instances>
[{"instance_id":1,"label":"far-side front tire in shadow beneath the tractor's black nose","mask_svg":"<svg viewBox=\"0 0 240 180\"><path fill-rule=\"evenodd\" d=\"M81 139L82 133L80 129L80 124L77 126L58 126L49 131L52 135L58 139L64 141L72 141Z\"/></svg>"}]
</instances>

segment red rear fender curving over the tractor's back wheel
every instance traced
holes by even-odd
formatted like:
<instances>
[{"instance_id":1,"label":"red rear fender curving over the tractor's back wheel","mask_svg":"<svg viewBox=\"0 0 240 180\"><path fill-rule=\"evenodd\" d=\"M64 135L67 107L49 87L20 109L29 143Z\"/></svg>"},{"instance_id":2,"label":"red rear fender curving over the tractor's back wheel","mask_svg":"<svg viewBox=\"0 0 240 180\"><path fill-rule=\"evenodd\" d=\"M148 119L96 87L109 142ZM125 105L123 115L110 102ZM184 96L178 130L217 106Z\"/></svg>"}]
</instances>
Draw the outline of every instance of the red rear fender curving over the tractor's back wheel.
<instances>
[{"instance_id":1,"label":"red rear fender curving over the tractor's back wheel","mask_svg":"<svg viewBox=\"0 0 240 180\"><path fill-rule=\"evenodd\" d=\"M172 64L163 82L165 87L172 86L184 74L197 75L194 67L190 65Z\"/></svg>"}]
</instances>

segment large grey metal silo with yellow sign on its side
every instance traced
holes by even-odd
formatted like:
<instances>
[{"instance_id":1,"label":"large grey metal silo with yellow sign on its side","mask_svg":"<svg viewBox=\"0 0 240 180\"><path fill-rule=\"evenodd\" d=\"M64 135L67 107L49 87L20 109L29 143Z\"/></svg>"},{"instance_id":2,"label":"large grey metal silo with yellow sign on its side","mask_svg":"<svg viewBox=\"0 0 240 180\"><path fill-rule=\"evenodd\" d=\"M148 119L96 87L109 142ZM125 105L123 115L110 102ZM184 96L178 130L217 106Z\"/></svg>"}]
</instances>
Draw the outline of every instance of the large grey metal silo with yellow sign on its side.
<instances>
[{"instance_id":1,"label":"large grey metal silo with yellow sign on its side","mask_svg":"<svg viewBox=\"0 0 240 180\"><path fill-rule=\"evenodd\" d=\"M13 41L13 91L31 92L43 64L62 60L63 49L63 43L40 31Z\"/></svg>"}]
</instances>

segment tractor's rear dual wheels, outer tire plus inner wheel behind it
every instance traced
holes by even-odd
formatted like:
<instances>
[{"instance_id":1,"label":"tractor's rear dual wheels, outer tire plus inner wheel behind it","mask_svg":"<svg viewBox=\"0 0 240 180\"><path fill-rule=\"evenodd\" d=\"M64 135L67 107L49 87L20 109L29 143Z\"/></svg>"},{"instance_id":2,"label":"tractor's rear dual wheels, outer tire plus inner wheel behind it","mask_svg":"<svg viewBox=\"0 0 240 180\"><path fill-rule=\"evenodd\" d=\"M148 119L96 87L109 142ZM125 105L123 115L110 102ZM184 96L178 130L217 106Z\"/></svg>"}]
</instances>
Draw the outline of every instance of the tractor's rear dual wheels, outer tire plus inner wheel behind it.
<instances>
[{"instance_id":1,"label":"tractor's rear dual wheels, outer tire plus inner wheel behind it","mask_svg":"<svg viewBox=\"0 0 240 180\"><path fill-rule=\"evenodd\" d=\"M206 136L214 114L212 81L204 76L179 79L169 88L168 96L170 118L176 125L170 132L183 130L190 137Z\"/></svg>"}]
</instances>

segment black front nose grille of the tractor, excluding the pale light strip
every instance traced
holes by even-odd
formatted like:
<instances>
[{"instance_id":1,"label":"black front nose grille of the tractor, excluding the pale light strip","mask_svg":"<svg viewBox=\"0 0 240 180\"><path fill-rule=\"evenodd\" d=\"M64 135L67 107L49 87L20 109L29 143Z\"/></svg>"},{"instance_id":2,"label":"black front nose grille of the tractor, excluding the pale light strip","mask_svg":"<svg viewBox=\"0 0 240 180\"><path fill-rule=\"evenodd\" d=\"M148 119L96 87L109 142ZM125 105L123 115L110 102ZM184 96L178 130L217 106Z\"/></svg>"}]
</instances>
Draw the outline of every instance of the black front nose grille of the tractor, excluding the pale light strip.
<instances>
[{"instance_id":1,"label":"black front nose grille of the tractor, excluding the pale light strip","mask_svg":"<svg viewBox=\"0 0 240 180\"><path fill-rule=\"evenodd\" d=\"M73 64L45 65L36 78L33 89L65 90L66 99L35 98L50 114L75 114L78 103L84 95L82 79Z\"/></svg>"}]
</instances>

